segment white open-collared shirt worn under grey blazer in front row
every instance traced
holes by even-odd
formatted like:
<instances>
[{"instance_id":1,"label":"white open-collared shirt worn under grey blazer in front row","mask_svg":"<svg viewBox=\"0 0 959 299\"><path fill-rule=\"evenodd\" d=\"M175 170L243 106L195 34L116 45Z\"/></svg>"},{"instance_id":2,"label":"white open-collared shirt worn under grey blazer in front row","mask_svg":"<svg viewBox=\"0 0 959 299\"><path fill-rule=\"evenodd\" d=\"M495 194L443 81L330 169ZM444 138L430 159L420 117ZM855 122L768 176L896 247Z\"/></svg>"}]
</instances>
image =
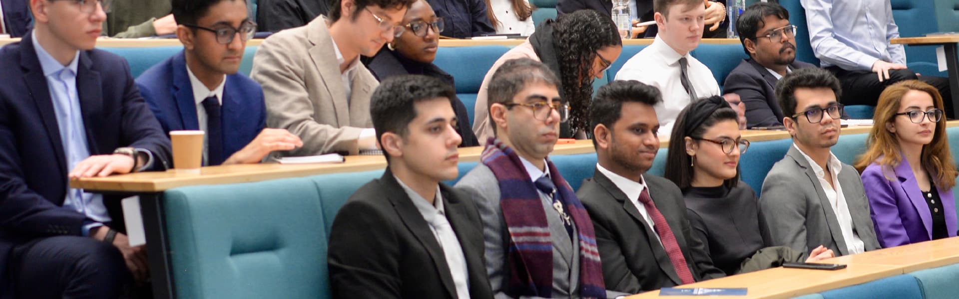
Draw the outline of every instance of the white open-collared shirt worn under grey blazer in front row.
<instances>
[{"instance_id":1,"label":"white open-collared shirt worn under grey blazer in front row","mask_svg":"<svg viewBox=\"0 0 959 299\"><path fill-rule=\"evenodd\" d=\"M839 185L839 172L842 171L842 162L839 162L839 159L830 151L830 161L827 162L827 167L830 169L832 175L832 184L830 185L830 183L826 181L826 172L823 171L823 168L819 167L819 164L816 164L806 152L796 147L796 144L793 144L792 147L799 150L799 153L802 153L803 156L806 157L806 160L812 167L812 171L816 173L816 177L819 178L819 184L823 186L823 192L826 193L826 197L830 200L832 213L835 214L836 220L839 221L839 228L842 230L842 239L846 241L846 248L849 250L849 254L865 252L866 245L859 239L859 235L854 231L853 216L849 214L849 204L846 202L846 196L842 193L842 185ZM833 185L835 185L835 189L832 188Z\"/></svg>"}]
</instances>

